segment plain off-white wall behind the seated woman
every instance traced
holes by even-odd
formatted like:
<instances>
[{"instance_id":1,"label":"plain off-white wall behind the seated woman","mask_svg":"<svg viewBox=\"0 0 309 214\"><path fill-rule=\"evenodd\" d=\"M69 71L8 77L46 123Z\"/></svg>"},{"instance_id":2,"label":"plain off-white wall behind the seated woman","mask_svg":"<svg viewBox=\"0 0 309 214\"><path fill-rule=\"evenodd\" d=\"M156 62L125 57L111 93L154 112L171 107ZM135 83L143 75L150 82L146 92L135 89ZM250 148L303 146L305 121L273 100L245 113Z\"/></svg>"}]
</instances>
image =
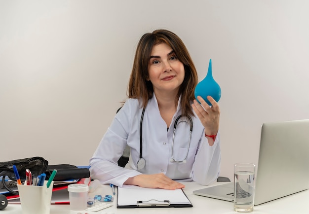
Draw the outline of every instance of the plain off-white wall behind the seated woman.
<instances>
[{"instance_id":1,"label":"plain off-white wall behind the seated woman","mask_svg":"<svg viewBox=\"0 0 309 214\"><path fill-rule=\"evenodd\" d=\"M0 161L87 165L126 99L139 38L173 31L222 89L221 176L264 122L309 118L308 0L0 0ZM293 142L291 142L293 143Z\"/></svg>"}]
</instances>

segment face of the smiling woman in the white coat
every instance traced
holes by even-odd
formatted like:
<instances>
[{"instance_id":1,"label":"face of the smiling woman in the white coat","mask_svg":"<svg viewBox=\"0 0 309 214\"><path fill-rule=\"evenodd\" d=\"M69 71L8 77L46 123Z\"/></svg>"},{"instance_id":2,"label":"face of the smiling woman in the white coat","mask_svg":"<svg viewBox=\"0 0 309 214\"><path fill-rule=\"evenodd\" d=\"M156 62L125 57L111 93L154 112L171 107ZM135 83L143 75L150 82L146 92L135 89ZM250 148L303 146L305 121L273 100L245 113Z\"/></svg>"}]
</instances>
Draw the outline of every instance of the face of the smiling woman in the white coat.
<instances>
[{"instance_id":1,"label":"face of the smiling woman in the white coat","mask_svg":"<svg viewBox=\"0 0 309 214\"><path fill-rule=\"evenodd\" d=\"M148 64L149 79L154 93L178 92L185 78L185 68L173 49L166 43L154 45Z\"/></svg>"}]
</instances>

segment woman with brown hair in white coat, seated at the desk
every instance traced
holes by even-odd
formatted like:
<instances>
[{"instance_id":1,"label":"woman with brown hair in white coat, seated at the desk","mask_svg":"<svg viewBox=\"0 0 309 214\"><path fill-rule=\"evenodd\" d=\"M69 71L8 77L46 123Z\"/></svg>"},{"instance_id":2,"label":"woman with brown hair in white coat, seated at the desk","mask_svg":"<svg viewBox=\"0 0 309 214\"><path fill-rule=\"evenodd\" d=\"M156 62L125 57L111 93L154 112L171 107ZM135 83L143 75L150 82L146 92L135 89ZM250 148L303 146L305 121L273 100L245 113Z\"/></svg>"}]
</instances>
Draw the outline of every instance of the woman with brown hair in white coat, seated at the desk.
<instances>
[{"instance_id":1,"label":"woman with brown hair in white coat, seated at the desk","mask_svg":"<svg viewBox=\"0 0 309 214\"><path fill-rule=\"evenodd\" d=\"M182 40L168 30L139 40L128 99L116 114L92 158L91 178L101 183L176 189L180 181L210 184L219 175L220 109L194 99L197 72ZM200 103L200 104L199 104ZM176 129L175 129L176 126ZM126 145L131 154L117 161Z\"/></svg>"}]
</instances>

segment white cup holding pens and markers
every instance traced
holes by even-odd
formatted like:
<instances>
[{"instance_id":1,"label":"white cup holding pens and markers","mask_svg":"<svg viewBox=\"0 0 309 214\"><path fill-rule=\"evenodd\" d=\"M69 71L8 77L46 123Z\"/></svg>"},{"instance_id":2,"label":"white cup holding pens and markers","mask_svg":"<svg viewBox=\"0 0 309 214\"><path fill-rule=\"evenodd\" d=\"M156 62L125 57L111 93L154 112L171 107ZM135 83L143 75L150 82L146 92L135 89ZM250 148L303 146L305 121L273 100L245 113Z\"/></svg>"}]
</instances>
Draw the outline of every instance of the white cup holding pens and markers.
<instances>
[{"instance_id":1,"label":"white cup holding pens and markers","mask_svg":"<svg viewBox=\"0 0 309 214\"><path fill-rule=\"evenodd\" d=\"M22 214L49 214L54 181L46 186L17 185Z\"/></svg>"}]
</instances>

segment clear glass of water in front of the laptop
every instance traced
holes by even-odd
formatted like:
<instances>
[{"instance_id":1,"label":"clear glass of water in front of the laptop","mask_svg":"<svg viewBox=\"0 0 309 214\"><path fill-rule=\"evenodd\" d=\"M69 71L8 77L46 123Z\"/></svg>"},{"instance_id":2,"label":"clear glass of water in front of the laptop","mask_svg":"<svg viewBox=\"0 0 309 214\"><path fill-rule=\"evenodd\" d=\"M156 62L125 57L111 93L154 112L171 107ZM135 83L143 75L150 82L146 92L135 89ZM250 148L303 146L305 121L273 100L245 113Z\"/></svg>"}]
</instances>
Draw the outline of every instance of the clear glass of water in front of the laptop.
<instances>
[{"instance_id":1,"label":"clear glass of water in front of the laptop","mask_svg":"<svg viewBox=\"0 0 309 214\"><path fill-rule=\"evenodd\" d=\"M254 206L255 164L234 164L234 211L250 213Z\"/></svg>"}]
</instances>

